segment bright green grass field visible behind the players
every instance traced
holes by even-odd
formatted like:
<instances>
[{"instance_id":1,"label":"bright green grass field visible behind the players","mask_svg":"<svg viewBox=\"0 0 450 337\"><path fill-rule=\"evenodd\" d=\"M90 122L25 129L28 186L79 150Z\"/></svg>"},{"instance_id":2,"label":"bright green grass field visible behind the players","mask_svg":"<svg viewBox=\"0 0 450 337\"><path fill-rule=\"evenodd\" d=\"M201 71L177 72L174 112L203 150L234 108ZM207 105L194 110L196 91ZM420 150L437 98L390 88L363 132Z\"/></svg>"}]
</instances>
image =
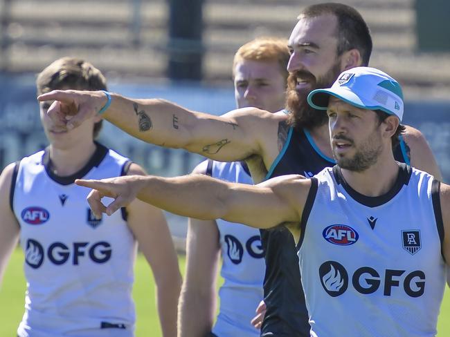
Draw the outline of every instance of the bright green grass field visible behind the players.
<instances>
[{"instance_id":1,"label":"bright green grass field visible behind the players","mask_svg":"<svg viewBox=\"0 0 450 337\"><path fill-rule=\"evenodd\" d=\"M12 254L3 287L0 290L0 336L15 336L17 325L24 314L24 291L26 287L22 270L23 253L16 249ZM179 256L181 273L184 274L184 256ZM136 302L137 337L159 337L161 329L154 305L154 282L145 259L141 254L136 261L136 281L133 296ZM446 289L438 321L438 337L450 336L450 289Z\"/></svg>"}]
</instances>

